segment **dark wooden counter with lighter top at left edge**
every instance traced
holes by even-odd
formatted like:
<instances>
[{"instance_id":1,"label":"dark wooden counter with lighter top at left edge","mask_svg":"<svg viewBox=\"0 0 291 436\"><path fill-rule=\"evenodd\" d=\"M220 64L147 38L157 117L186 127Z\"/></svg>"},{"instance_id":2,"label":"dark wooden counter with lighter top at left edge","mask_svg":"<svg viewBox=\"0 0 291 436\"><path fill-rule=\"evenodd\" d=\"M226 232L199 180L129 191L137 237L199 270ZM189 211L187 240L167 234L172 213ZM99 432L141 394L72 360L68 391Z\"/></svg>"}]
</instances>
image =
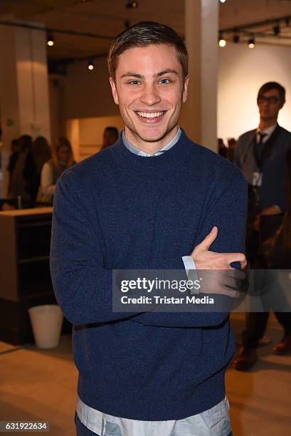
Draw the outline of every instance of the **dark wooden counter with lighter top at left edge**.
<instances>
[{"instance_id":1,"label":"dark wooden counter with lighter top at left edge","mask_svg":"<svg viewBox=\"0 0 291 436\"><path fill-rule=\"evenodd\" d=\"M0 212L0 340L33 341L27 309L56 303L49 254L52 207Z\"/></svg>"}]
</instances>

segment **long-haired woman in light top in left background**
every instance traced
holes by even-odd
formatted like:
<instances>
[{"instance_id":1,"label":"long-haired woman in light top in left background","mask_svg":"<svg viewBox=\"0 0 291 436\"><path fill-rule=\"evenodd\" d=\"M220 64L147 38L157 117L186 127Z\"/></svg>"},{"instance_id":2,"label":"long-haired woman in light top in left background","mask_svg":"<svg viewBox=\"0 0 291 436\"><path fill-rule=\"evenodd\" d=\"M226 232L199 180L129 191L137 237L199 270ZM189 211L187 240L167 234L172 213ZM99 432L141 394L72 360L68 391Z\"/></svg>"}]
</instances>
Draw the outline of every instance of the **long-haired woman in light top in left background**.
<instances>
[{"instance_id":1,"label":"long-haired woman in light top in left background","mask_svg":"<svg viewBox=\"0 0 291 436\"><path fill-rule=\"evenodd\" d=\"M65 170L75 165L73 150L66 137L59 137L55 155L43 165L37 202L53 204L56 182Z\"/></svg>"}]
</instances>

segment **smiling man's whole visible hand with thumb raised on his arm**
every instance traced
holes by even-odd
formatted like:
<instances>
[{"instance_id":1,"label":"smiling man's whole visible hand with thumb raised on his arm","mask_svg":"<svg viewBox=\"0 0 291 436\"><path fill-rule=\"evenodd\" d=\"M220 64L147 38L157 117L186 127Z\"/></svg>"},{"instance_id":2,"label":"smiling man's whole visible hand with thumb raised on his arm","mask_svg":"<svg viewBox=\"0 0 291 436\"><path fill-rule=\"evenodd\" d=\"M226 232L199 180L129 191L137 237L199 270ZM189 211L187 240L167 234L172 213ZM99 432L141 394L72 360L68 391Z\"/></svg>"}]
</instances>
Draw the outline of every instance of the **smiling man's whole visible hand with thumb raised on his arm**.
<instances>
[{"instance_id":1,"label":"smiling man's whole visible hand with thumb raised on his arm","mask_svg":"<svg viewBox=\"0 0 291 436\"><path fill-rule=\"evenodd\" d=\"M243 271L231 266L232 262L240 262L241 269L247 262L243 253L216 253L209 251L209 247L218 235L217 227L203 241L195 247L191 256L196 264L199 275L201 294L221 294L238 299L240 291L247 286L246 275ZM211 271L206 271L211 270Z\"/></svg>"}]
</instances>

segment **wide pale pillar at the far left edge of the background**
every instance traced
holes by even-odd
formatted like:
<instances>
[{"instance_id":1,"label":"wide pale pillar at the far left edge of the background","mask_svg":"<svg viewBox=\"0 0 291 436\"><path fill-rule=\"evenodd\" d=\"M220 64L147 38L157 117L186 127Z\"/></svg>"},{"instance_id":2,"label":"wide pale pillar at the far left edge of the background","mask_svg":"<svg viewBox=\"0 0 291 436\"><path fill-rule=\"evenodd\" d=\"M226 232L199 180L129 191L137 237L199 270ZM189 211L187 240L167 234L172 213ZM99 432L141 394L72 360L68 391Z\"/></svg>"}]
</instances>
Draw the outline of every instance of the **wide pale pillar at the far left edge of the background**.
<instances>
[{"instance_id":1,"label":"wide pale pillar at the far left edge of the background","mask_svg":"<svg viewBox=\"0 0 291 436\"><path fill-rule=\"evenodd\" d=\"M5 197L4 175L11 139L26 134L42 135L51 141L46 32L0 25L0 65L1 154L4 156L0 197Z\"/></svg>"}]
</instances>

